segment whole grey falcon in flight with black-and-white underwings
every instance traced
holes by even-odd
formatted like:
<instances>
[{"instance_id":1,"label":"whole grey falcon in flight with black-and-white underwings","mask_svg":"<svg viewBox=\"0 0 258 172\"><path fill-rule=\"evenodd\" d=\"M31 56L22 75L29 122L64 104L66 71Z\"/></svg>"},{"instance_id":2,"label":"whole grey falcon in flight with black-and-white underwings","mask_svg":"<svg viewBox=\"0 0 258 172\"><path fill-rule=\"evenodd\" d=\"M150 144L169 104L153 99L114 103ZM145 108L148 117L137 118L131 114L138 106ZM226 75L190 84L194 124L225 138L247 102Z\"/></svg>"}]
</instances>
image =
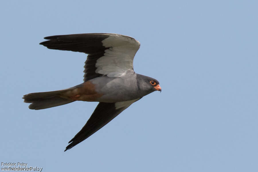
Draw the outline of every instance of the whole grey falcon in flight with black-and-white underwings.
<instances>
[{"instance_id":1,"label":"whole grey falcon in flight with black-and-white underwings","mask_svg":"<svg viewBox=\"0 0 258 172\"><path fill-rule=\"evenodd\" d=\"M73 101L98 101L89 120L69 141L66 150L79 144L114 119L132 103L153 91L159 81L134 72L134 55L140 42L120 34L71 34L48 36L40 44L49 49L84 52L83 83L58 91L29 93L23 99L30 109L40 110Z\"/></svg>"}]
</instances>

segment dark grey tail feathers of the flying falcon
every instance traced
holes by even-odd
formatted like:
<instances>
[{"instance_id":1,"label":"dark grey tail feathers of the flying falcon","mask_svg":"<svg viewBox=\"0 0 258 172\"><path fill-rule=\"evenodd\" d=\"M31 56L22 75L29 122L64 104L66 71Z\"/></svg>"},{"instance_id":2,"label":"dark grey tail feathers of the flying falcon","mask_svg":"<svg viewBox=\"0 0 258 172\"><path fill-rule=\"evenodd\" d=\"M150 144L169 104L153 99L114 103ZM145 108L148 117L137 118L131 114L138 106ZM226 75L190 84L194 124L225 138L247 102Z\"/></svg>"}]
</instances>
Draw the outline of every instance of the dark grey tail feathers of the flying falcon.
<instances>
[{"instance_id":1,"label":"dark grey tail feathers of the flying falcon","mask_svg":"<svg viewBox=\"0 0 258 172\"><path fill-rule=\"evenodd\" d=\"M60 106L67 103L71 103L75 100L67 99L62 96L62 93L73 90L75 88L68 88L58 91L48 91L40 93L29 93L24 95L22 98L24 102L31 103L30 109L40 110L50 107Z\"/></svg>"}]
</instances>

